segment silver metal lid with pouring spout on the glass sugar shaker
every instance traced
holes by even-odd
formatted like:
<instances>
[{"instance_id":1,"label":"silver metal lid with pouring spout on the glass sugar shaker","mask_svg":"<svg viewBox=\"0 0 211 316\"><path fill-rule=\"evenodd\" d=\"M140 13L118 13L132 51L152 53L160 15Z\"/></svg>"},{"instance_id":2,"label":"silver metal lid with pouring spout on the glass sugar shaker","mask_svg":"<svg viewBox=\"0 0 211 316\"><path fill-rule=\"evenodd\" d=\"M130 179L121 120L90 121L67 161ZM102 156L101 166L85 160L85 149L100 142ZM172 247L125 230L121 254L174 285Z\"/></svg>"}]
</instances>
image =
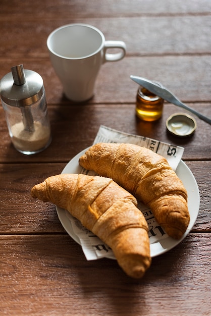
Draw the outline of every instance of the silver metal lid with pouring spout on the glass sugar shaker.
<instances>
[{"instance_id":1,"label":"silver metal lid with pouring spout on the glass sugar shaker","mask_svg":"<svg viewBox=\"0 0 211 316\"><path fill-rule=\"evenodd\" d=\"M12 72L0 81L1 99L14 107L25 107L38 101L44 92L42 77L23 65L14 66Z\"/></svg>"}]
</instances>

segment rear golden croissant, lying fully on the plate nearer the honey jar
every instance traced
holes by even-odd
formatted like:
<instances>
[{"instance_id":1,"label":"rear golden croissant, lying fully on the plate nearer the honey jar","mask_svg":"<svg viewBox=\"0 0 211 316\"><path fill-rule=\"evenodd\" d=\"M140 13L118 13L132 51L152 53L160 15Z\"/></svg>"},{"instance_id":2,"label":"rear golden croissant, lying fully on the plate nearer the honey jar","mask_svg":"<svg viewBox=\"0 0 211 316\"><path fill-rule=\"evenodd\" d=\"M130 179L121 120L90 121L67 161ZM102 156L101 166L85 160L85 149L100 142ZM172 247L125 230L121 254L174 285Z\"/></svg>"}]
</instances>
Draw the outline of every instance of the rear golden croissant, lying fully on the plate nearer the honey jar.
<instances>
[{"instance_id":1,"label":"rear golden croissant, lying fully on the plate nearer the honey jar","mask_svg":"<svg viewBox=\"0 0 211 316\"><path fill-rule=\"evenodd\" d=\"M185 233L190 221L187 191L161 155L133 144L98 143L80 157L79 164L112 178L148 205L169 236L179 239Z\"/></svg>"}]
</instances>

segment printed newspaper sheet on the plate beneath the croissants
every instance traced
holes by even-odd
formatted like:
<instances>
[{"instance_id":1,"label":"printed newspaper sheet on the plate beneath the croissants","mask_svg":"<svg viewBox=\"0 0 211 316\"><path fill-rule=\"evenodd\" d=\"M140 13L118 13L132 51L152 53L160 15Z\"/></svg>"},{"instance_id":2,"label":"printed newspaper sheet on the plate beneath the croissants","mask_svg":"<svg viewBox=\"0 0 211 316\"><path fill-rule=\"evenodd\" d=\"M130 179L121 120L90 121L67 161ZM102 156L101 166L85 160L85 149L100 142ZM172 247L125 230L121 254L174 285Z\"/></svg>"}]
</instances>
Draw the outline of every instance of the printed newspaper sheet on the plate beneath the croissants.
<instances>
[{"instance_id":1,"label":"printed newspaper sheet on the plate beneath the croissants","mask_svg":"<svg viewBox=\"0 0 211 316\"><path fill-rule=\"evenodd\" d=\"M176 170L184 151L184 148L180 146L174 146L159 140L120 132L106 126L100 126L93 144L98 142L132 143L149 148L152 151L164 156L174 170ZM92 171L85 169L82 169L81 173L87 175L96 175ZM138 208L140 209L140 212L143 213L148 224L150 244L167 238L168 235L166 234L165 230L155 221L151 209L141 202L138 203ZM104 244L98 237L84 228L81 223L73 218L68 212L67 217L71 221L74 234L80 240L87 260L94 260L102 257L115 259L114 253L108 245Z\"/></svg>"}]
</instances>

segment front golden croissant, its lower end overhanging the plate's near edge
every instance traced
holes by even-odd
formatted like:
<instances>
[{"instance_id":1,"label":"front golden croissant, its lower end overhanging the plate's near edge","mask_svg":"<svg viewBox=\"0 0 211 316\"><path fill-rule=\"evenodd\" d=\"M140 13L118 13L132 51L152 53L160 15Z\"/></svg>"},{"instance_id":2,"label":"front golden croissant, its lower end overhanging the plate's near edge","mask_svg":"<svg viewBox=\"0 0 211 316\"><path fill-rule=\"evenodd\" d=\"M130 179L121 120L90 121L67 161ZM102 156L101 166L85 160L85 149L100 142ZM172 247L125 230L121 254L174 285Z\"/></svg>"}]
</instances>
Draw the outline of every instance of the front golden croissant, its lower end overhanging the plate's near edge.
<instances>
[{"instance_id":1,"label":"front golden croissant, its lower end overhanging the plate's near edge","mask_svg":"<svg viewBox=\"0 0 211 316\"><path fill-rule=\"evenodd\" d=\"M31 196L67 209L110 246L120 267L141 278L151 263L148 227L137 200L112 179L62 174L45 179Z\"/></svg>"}]
</instances>

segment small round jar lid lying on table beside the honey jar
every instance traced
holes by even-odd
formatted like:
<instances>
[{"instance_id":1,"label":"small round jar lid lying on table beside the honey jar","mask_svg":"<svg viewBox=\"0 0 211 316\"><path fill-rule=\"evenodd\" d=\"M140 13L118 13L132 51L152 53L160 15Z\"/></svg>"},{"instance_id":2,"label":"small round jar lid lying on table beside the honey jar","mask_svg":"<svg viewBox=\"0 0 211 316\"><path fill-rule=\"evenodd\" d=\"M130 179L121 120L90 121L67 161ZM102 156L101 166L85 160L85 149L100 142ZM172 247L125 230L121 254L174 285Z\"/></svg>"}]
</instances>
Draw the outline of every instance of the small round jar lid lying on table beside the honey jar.
<instances>
[{"instance_id":1,"label":"small round jar lid lying on table beside the honey jar","mask_svg":"<svg viewBox=\"0 0 211 316\"><path fill-rule=\"evenodd\" d=\"M168 131L176 136L190 136L196 129L196 121L186 113L175 113L166 121Z\"/></svg>"}]
</instances>

